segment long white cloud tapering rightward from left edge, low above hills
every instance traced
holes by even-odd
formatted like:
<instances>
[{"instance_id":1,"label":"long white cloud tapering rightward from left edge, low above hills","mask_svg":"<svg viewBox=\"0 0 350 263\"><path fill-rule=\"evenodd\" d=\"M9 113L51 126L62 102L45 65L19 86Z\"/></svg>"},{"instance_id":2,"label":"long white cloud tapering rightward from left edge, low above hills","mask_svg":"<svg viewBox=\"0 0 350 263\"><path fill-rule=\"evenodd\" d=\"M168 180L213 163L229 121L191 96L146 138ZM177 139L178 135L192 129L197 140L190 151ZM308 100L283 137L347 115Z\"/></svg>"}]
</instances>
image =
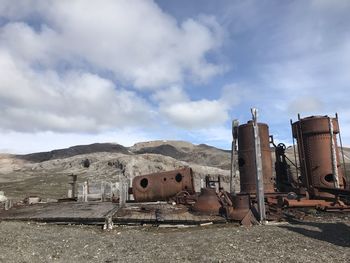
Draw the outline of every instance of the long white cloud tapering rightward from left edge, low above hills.
<instances>
[{"instance_id":1,"label":"long white cloud tapering rightward from left edge, low above hills","mask_svg":"<svg viewBox=\"0 0 350 263\"><path fill-rule=\"evenodd\" d=\"M97 132L153 117L134 92L91 73L36 71L1 49L0 67L0 126L5 130Z\"/></svg>"}]
</instances>

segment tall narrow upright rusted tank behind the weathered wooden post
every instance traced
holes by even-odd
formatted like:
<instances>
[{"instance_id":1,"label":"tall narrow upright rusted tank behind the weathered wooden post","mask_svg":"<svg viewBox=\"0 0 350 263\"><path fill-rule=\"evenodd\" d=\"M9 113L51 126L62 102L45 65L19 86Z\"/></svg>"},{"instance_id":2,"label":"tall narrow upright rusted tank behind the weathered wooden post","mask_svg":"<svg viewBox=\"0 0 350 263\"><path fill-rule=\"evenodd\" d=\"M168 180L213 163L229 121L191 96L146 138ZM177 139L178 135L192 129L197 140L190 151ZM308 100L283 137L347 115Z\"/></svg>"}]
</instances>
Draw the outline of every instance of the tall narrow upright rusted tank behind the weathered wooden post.
<instances>
[{"instance_id":1,"label":"tall narrow upright rusted tank behind the weathered wooden post","mask_svg":"<svg viewBox=\"0 0 350 263\"><path fill-rule=\"evenodd\" d=\"M260 146L262 155L262 173L264 192L274 192L274 178L272 172L272 157L269 141L269 127L265 123L258 123ZM241 192L256 193L256 164L253 122L238 127L238 165L240 173Z\"/></svg>"}]
</instances>

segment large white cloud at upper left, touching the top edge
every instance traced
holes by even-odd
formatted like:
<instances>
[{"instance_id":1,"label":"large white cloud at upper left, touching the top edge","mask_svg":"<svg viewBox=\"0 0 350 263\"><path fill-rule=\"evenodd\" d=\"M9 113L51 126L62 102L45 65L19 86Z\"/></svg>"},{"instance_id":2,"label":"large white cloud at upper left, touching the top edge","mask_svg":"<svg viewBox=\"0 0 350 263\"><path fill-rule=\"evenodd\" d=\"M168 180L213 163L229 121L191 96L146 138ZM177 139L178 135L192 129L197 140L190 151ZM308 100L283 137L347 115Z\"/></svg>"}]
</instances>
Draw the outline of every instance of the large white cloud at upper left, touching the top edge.
<instances>
[{"instance_id":1,"label":"large white cloud at upper left, touching the top edge","mask_svg":"<svg viewBox=\"0 0 350 263\"><path fill-rule=\"evenodd\" d=\"M36 15L43 20L36 31L22 23L8 24L2 45L45 66L85 61L138 88L159 88L186 78L206 81L223 70L206 59L222 41L213 17L178 24L147 0L48 3L21 3L15 12L13 1L5 1L3 16L26 21Z\"/></svg>"}]
</instances>

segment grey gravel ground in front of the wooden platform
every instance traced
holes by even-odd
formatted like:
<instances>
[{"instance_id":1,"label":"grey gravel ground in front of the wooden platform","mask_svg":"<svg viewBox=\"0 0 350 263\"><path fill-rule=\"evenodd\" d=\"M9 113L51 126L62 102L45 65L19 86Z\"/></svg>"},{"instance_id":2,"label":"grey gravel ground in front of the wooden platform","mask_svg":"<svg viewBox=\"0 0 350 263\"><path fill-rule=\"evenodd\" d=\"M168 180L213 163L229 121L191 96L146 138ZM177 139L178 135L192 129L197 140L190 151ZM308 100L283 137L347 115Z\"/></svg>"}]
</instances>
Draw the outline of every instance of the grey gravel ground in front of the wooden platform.
<instances>
[{"instance_id":1,"label":"grey gravel ground in front of the wooden platform","mask_svg":"<svg viewBox=\"0 0 350 263\"><path fill-rule=\"evenodd\" d=\"M350 220L183 229L0 223L0 262L349 262Z\"/></svg>"}]
</instances>

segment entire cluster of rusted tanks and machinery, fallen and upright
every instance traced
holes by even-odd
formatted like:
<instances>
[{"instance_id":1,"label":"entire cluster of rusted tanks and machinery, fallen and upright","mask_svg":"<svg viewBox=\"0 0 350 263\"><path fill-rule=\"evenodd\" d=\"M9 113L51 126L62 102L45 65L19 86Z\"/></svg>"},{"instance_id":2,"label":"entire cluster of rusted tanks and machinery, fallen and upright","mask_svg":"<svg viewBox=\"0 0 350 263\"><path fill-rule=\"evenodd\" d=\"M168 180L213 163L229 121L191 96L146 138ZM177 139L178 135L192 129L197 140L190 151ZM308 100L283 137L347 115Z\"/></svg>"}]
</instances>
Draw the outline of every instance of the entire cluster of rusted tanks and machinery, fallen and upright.
<instances>
[{"instance_id":1,"label":"entire cluster of rusted tanks and machinery, fallen and upright","mask_svg":"<svg viewBox=\"0 0 350 263\"><path fill-rule=\"evenodd\" d=\"M299 117L297 122L292 123L292 134L298 142L300 167L295 149L293 163L285 154L286 146L274 143L268 125L253 120L235 127L240 193L226 192L220 186L220 177L217 181L210 181L207 177L206 187L195 193L193 172L190 168L183 168L135 177L132 183L135 201L172 201L186 205L194 213L220 215L244 225L257 222L256 218L264 222L266 211L270 219L274 215L278 218L284 207L350 211L349 202L340 198L344 195L350 197L350 190L345 189L346 180L340 168L337 118ZM276 177L273 175L270 144L275 147ZM291 165L296 168L296 176L292 174ZM214 187L215 183L219 184L218 190ZM264 217L261 216L262 211ZM278 213L273 214L274 211Z\"/></svg>"}]
</instances>

